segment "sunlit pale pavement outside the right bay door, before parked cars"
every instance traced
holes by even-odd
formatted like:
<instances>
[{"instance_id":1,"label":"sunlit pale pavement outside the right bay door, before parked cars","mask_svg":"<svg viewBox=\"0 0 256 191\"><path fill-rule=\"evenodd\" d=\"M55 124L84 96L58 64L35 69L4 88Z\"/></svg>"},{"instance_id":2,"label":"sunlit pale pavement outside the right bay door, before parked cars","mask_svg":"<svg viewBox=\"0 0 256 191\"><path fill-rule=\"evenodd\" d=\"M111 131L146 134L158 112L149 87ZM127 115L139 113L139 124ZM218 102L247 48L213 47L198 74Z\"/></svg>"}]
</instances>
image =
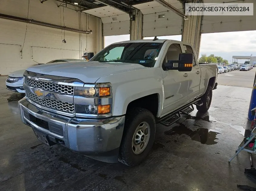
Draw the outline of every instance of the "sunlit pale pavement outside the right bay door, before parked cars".
<instances>
[{"instance_id":1,"label":"sunlit pale pavement outside the right bay door, before parked cars","mask_svg":"<svg viewBox=\"0 0 256 191\"><path fill-rule=\"evenodd\" d=\"M219 74L217 82L220 85L252 88L254 85L255 72L255 67L249 71L234 70L232 72Z\"/></svg>"}]
</instances>

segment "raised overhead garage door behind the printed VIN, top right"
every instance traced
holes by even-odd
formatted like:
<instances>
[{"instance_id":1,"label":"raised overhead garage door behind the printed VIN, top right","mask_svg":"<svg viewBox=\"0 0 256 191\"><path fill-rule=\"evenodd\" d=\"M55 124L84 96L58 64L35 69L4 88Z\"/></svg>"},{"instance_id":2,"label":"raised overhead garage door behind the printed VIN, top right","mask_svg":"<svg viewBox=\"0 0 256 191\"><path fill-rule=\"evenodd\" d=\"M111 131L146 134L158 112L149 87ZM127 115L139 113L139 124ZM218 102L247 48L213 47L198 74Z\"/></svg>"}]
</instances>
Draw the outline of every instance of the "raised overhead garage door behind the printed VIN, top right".
<instances>
[{"instance_id":1,"label":"raised overhead garage door behind the printed VIN, top right","mask_svg":"<svg viewBox=\"0 0 256 191\"><path fill-rule=\"evenodd\" d=\"M205 3L216 3L215 1L206 0ZM227 0L234 2L233 0ZM241 0L235 3L255 3L255 0ZM256 6L254 6L253 16L204 16L201 33L218 33L218 32L232 32L232 31L245 31L256 30Z\"/></svg>"}]
</instances>

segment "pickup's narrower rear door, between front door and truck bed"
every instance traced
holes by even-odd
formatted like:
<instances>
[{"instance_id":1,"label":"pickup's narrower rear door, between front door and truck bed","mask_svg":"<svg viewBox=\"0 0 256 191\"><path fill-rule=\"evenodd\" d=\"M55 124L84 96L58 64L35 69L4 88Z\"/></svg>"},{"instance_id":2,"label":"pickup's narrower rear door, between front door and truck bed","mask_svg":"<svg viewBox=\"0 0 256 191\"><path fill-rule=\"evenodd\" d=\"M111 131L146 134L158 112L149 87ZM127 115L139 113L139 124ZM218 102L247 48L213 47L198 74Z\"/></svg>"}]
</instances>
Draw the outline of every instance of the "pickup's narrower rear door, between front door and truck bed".
<instances>
[{"instance_id":1,"label":"pickup's narrower rear door, between front door and truck bed","mask_svg":"<svg viewBox=\"0 0 256 191\"><path fill-rule=\"evenodd\" d=\"M192 100L198 96L199 86L201 81L201 69L195 59L197 59L196 54L190 45L183 45L185 53L193 53L194 61L193 68L189 73L189 83L188 83L188 100Z\"/></svg>"}]
</instances>

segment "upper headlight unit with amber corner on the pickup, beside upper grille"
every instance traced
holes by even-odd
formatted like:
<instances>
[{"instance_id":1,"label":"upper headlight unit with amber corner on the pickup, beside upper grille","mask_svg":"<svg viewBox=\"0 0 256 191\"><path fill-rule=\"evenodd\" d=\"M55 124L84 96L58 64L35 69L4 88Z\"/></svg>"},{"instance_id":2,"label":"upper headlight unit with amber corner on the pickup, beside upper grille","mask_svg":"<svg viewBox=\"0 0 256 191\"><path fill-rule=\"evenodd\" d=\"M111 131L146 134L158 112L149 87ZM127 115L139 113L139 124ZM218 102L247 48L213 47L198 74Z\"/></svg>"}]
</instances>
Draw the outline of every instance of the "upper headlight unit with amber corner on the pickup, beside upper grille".
<instances>
[{"instance_id":1,"label":"upper headlight unit with amber corner on the pickup, beside upper grille","mask_svg":"<svg viewBox=\"0 0 256 191\"><path fill-rule=\"evenodd\" d=\"M110 96L110 87L75 87L75 96L107 97Z\"/></svg>"}]
</instances>

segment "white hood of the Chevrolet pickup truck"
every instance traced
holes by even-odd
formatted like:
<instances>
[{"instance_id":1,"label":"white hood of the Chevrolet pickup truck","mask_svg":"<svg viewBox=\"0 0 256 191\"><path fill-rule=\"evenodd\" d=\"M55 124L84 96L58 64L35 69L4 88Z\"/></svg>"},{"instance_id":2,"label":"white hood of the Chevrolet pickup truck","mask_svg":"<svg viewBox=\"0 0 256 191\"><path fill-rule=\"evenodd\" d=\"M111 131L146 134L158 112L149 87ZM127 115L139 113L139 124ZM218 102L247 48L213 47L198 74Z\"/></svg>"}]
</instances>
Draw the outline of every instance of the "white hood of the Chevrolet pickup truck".
<instances>
[{"instance_id":1,"label":"white hood of the Chevrolet pickup truck","mask_svg":"<svg viewBox=\"0 0 256 191\"><path fill-rule=\"evenodd\" d=\"M65 62L37 65L27 71L39 74L77 78L85 83L95 83L103 76L146 68L140 64L123 62ZM108 82L108 81L107 81Z\"/></svg>"}]
</instances>

